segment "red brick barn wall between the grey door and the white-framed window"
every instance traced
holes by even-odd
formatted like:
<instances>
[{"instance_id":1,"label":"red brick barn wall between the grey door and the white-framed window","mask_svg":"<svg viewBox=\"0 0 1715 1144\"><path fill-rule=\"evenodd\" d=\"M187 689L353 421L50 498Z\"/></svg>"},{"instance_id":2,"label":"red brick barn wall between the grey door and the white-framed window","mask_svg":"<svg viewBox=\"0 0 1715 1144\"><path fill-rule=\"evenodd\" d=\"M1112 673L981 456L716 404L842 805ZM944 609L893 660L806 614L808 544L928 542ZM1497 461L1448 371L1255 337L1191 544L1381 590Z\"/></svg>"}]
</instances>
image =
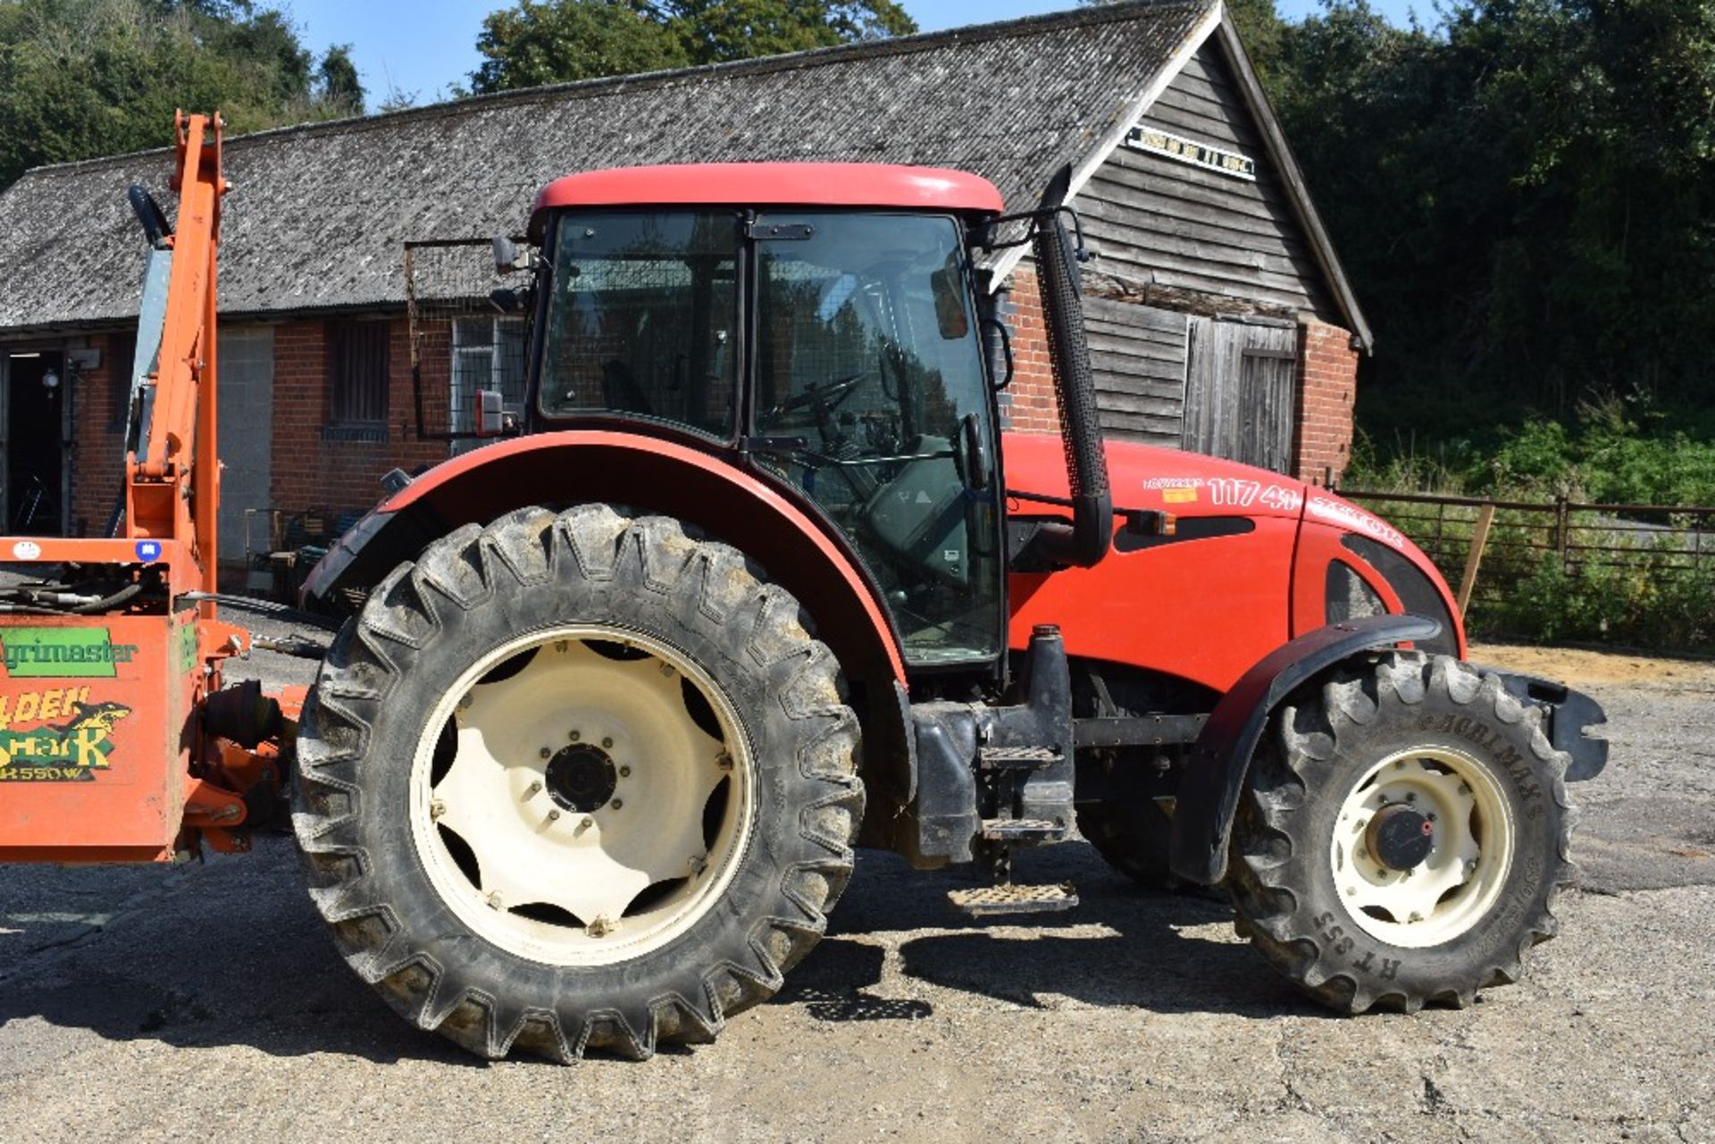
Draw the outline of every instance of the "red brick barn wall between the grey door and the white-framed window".
<instances>
[{"instance_id":1,"label":"red brick barn wall between the grey door and the white-framed window","mask_svg":"<svg viewBox=\"0 0 1715 1144\"><path fill-rule=\"evenodd\" d=\"M446 460L444 441L415 439L410 328L405 317L377 321L389 324L384 441L341 441L333 436L338 427L328 425L326 322L305 319L274 329L274 508L367 509L381 499L379 482L389 468L412 472ZM448 352L444 345L439 350L425 357L441 367L437 376L424 377L424 393L437 396L444 408Z\"/></svg>"}]
</instances>

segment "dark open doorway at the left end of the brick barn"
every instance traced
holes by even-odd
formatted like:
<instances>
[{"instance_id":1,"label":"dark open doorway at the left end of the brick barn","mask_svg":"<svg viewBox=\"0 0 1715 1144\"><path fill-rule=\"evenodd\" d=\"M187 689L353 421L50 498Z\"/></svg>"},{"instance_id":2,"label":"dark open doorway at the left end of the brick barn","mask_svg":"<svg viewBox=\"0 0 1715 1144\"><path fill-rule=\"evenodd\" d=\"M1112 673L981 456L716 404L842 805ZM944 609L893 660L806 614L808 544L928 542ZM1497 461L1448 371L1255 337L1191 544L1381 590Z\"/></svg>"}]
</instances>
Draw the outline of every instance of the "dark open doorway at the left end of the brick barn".
<instances>
[{"instance_id":1,"label":"dark open doorway at the left end of the brick barn","mask_svg":"<svg viewBox=\"0 0 1715 1144\"><path fill-rule=\"evenodd\" d=\"M65 528L65 355L17 350L0 370L0 448L10 535L57 537Z\"/></svg>"}]
</instances>

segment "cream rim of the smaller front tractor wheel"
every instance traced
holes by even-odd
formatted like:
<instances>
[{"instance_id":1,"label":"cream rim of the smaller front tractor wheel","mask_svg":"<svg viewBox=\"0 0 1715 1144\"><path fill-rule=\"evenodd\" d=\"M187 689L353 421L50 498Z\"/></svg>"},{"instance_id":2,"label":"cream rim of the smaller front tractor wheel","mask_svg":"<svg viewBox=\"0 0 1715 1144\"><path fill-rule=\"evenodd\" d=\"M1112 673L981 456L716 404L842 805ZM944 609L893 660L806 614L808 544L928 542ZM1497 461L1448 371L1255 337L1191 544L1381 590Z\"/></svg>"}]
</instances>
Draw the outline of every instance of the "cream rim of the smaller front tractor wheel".
<instances>
[{"instance_id":1,"label":"cream rim of the smaller front tractor wheel","mask_svg":"<svg viewBox=\"0 0 1715 1144\"><path fill-rule=\"evenodd\" d=\"M1430 839L1427 856L1405 870L1375 852L1375 816L1389 808L1410 808ZM1513 811L1494 774L1465 751L1423 746L1389 755L1351 787L1334 820L1329 861L1360 930L1389 945L1425 948L1487 916L1514 847Z\"/></svg>"}]
</instances>

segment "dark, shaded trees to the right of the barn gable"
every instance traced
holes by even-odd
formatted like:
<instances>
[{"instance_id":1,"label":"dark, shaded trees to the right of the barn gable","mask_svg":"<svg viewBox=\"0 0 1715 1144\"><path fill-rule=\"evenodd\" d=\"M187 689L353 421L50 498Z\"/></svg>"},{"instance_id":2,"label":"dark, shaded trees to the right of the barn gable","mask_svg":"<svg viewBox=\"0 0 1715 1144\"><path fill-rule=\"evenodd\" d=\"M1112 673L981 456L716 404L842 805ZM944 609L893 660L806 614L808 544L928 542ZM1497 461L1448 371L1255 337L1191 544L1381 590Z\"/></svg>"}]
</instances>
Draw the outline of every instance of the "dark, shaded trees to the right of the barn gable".
<instances>
[{"instance_id":1,"label":"dark, shaded trees to the right of the barn gable","mask_svg":"<svg viewBox=\"0 0 1715 1144\"><path fill-rule=\"evenodd\" d=\"M1377 329L1382 439L1458 436L1466 400L1703 400L1715 2L1459 0L1427 31L1329 0L1271 74Z\"/></svg>"}]
</instances>

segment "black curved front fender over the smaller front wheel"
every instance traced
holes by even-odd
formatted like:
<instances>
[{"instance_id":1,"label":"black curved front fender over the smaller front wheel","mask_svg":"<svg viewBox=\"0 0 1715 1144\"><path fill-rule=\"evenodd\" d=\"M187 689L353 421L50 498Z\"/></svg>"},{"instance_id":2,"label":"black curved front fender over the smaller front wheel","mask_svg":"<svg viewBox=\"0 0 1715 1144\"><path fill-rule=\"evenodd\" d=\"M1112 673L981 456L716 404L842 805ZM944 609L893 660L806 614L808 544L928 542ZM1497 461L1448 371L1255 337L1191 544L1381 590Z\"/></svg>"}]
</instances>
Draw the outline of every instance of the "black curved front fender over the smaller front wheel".
<instances>
[{"instance_id":1,"label":"black curved front fender over the smaller front wheel","mask_svg":"<svg viewBox=\"0 0 1715 1144\"><path fill-rule=\"evenodd\" d=\"M1226 876L1238 794L1245 789L1262 729L1281 700L1351 655L1437 635L1441 623L1423 616L1369 616L1307 631L1257 660L1214 705L1192 748L1173 808L1173 873L1200 885Z\"/></svg>"}]
</instances>

